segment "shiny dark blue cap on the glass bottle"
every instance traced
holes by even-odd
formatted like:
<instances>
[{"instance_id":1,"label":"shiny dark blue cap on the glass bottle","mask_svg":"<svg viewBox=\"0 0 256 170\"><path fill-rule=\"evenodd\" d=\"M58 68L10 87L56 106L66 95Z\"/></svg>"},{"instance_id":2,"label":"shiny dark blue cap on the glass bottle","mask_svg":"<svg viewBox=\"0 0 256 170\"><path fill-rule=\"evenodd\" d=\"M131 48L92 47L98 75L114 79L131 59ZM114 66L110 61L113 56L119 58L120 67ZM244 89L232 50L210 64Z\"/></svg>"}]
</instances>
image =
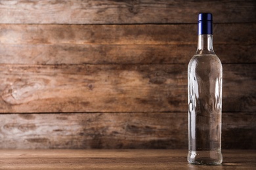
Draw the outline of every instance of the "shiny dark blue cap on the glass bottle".
<instances>
[{"instance_id":1,"label":"shiny dark blue cap on the glass bottle","mask_svg":"<svg viewBox=\"0 0 256 170\"><path fill-rule=\"evenodd\" d=\"M202 34L213 34L213 15L211 13L198 15L198 35Z\"/></svg>"}]
</instances>

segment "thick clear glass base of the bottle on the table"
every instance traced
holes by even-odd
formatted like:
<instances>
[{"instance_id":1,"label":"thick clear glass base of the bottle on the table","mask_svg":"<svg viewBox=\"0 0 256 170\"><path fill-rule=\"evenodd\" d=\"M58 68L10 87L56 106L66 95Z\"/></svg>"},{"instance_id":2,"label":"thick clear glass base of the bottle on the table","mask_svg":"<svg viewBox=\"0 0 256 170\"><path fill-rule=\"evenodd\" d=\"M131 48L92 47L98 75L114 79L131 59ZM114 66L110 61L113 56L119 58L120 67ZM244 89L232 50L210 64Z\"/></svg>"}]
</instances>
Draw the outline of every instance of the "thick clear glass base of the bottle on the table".
<instances>
[{"instance_id":1,"label":"thick clear glass base of the bottle on the table","mask_svg":"<svg viewBox=\"0 0 256 170\"><path fill-rule=\"evenodd\" d=\"M194 165L221 165L221 151L189 151L188 163Z\"/></svg>"}]
</instances>

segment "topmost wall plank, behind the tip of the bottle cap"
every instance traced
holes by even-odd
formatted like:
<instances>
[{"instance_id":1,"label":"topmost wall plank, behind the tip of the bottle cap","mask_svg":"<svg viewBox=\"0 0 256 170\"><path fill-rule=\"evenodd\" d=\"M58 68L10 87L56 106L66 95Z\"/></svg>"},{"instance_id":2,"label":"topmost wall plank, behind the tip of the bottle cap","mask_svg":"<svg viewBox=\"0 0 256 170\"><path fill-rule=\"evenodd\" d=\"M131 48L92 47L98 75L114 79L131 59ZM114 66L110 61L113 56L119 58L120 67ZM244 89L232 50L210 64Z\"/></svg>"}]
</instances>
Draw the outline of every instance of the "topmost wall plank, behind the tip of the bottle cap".
<instances>
[{"instance_id":1,"label":"topmost wall plank, behind the tip of the bottle cap","mask_svg":"<svg viewBox=\"0 0 256 170\"><path fill-rule=\"evenodd\" d=\"M199 12L215 22L256 22L255 1L1 1L5 24L196 23ZM207 9L207 10L205 10Z\"/></svg>"}]
</instances>

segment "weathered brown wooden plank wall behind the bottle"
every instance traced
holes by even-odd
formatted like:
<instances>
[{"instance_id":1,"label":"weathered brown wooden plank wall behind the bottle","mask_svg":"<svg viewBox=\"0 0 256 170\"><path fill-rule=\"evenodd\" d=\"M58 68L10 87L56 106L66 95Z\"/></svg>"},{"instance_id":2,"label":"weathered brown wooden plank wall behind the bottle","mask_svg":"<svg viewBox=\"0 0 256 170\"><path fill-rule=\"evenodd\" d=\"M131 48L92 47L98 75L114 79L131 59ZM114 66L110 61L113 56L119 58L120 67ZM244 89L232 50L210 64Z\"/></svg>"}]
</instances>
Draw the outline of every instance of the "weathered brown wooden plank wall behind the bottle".
<instances>
[{"instance_id":1,"label":"weathered brown wooden plank wall behind the bottle","mask_svg":"<svg viewBox=\"0 0 256 170\"><path fill-rule=\"evenodd\" d=\"M223 148L256 148L256 1L0 1L0 148L187 148L212 12Z\"/></svg>"}]
</instances>

